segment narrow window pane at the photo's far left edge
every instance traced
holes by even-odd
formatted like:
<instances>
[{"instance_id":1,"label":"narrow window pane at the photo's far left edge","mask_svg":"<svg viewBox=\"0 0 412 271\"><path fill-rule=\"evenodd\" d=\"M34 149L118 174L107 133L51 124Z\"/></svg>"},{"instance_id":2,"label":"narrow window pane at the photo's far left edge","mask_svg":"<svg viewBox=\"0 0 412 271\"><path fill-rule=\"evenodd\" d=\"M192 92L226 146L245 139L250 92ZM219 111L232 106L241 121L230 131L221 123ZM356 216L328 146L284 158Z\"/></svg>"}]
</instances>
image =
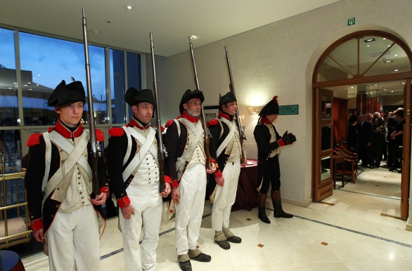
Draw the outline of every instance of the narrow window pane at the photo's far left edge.
<instances>
[{"instance_id":1,"label":"narrow window pane at the photo's far left edge","mask_svg":"<svg viewBox=\"0 0 412 271\"><path fill-rule=\"evenodd\" d=\"M0 126L17 126L18 98L14 32L0 28Z\"/></svg>"}]
</instances>

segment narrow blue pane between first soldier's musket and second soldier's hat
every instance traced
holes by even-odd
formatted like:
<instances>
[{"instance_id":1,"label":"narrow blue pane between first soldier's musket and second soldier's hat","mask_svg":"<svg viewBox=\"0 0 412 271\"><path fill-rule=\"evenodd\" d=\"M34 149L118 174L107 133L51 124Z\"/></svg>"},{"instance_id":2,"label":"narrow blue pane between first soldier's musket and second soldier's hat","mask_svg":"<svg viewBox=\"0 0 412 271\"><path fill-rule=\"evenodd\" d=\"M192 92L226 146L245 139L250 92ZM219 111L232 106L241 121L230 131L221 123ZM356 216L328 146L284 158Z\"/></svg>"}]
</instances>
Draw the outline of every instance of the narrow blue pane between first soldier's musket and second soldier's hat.
<instances>
[{"instance_id":1,"label":"narrow blue pane between first soldier's musket and second soldier's hat","mask_svg":"<svg viewBox=\"0 0 412 271\"><path fill-rule=\"evenodd\" d=\"M110 49L110 81L112 84L112 124L126 123L124 107L124 58L123 51Z\"/></svg>"}]
</instances>

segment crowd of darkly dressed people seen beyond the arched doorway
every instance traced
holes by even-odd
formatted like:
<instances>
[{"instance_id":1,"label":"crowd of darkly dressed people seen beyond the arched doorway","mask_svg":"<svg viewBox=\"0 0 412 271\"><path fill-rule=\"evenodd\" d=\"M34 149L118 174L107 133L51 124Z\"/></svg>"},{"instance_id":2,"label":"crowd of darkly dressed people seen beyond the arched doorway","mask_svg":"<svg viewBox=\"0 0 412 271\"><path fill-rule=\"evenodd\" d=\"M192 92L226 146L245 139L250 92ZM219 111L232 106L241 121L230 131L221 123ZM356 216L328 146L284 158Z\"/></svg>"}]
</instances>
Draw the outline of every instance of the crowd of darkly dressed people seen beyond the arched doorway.
<instances>
[{"instance_id":1,"label":"crowd of darkly dressed people seen beyond the arched doorway","mask_svg":"<svg viewBox=\"0 0 412 271\"><path fill-rule=\"evenodd\" d=\"M401 173L404 109L349 116L347 148L358 153L361 166L389 167ZM386 164L382 164L386 161Z\"/></svg>"}]
</instances>

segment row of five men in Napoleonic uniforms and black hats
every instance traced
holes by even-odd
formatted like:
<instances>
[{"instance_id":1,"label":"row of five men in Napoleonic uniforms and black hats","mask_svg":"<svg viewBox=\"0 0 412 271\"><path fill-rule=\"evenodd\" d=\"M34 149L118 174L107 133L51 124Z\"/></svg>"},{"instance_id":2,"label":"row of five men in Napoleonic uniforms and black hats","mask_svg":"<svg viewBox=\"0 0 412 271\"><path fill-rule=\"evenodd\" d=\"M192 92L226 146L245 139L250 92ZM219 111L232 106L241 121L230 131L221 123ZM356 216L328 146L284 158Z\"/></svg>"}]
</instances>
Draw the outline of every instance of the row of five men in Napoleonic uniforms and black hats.
<instances>
[{"instance_id":1,"label":"row of five men in Napoleonic uniforms and black hats","mask_svg":"<svg viewBox=\"0 0 412 271\"><path fill-rule=\"evenodd\" d=\"M150 124L155 108L153 92L129 88L124 100L133 117L109 131L107 157L98 158L100 190L91 181L90 131L82 127L85 93L79 81L62 81L51 94L48 106L59 115L56 126L34 133L29 147L25 187L33 237L44 242L50 270L99 270L99 237L105 221L101 206L114 194L119 209L126 270L155 270L156 248L162 218L162 197L169 197L176 210L176 258L181 270L191 271L191 260L210 262L200 251L207 174L213 194L212 229L214 241L230 249L242 239L229 230L231 206L236 199L240 167L246 159L240 131L234 119L237 100L233 93L219 99L219 115L209 122L210 166L205 150L205 131L199 119L205 100L199 90L187 90L179 104L180 116L165 125L165 189L160 190L161 164L157 152L157 128ZM296 141L286 131L281 136L272 122L278 117L277 96L259 113L254 135L258 148L259 215L264 223L266 196L271 187L273 216L292 218L281 204L281 147ZM98 142L104 135L96 129ZM96 163L95 163L96 164ZM109 183L113 191L109 192ZM171 197L171 198L170 198ZM142 249L139 245L143 229ZM141 251L142 250L142 251Z\"/></svg>"}]
</instances>

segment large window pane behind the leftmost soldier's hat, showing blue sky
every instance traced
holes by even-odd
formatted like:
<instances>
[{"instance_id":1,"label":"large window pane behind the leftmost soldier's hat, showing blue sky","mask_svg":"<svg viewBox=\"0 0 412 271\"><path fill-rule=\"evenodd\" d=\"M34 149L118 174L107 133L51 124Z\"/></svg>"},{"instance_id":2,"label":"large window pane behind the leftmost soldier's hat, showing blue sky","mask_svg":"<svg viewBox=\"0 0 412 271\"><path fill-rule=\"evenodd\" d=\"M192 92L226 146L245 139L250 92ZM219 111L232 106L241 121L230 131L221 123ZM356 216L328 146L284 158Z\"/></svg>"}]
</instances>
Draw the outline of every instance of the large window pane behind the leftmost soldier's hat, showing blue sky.
<instances>
[{"instance_id":1,"label":"large window pane behind the leftmost soldier's hat, showing blue sky","mask_svg":"<svg viewBox=\"0 0 412 271\"><path fill-rule=\"evenodd\" d=\"M58 116L53 108L47 107L47 100L60 81L70 84L71 77L82 81L87 95L84 46L25 32L19 33L19 40L25 125L56 124ZM89 58L96 124L101 124L107 115L104 48L89 46ZM86 105L85 121L87 110Z\"/></svg>"}]
</instances>

